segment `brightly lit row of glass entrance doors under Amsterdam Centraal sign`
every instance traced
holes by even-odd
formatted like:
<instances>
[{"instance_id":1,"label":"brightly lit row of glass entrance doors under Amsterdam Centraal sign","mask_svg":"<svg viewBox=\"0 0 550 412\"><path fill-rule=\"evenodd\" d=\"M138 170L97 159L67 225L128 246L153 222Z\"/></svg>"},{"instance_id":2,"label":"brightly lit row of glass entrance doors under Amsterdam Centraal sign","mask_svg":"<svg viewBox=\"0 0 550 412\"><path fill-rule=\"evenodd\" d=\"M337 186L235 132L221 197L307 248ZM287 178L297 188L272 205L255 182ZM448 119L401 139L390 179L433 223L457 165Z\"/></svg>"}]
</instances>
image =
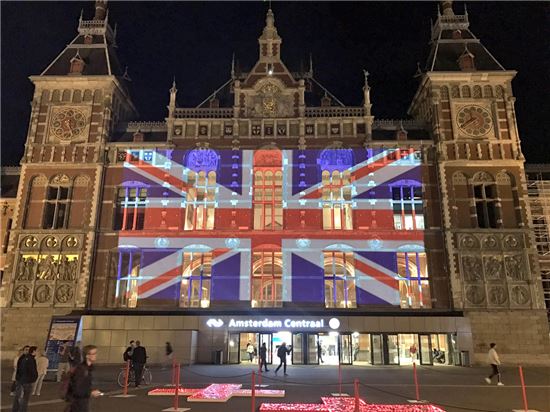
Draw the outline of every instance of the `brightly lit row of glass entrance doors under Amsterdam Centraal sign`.
<instances>
[{"instance_id":1,"label":"brightly lit row of glass entrance doors under Amsterdam Centraal sign","mask_svg":"<svg viewBox=\"0 0 550 412\"><path fill-rule=\"evenodd\" d=\"M258 364L265 343L267 364L278 364L283 342L289 365L459 364L454 334L290 331L229 333L228 362Z\"/></svg>"}]
</instances>

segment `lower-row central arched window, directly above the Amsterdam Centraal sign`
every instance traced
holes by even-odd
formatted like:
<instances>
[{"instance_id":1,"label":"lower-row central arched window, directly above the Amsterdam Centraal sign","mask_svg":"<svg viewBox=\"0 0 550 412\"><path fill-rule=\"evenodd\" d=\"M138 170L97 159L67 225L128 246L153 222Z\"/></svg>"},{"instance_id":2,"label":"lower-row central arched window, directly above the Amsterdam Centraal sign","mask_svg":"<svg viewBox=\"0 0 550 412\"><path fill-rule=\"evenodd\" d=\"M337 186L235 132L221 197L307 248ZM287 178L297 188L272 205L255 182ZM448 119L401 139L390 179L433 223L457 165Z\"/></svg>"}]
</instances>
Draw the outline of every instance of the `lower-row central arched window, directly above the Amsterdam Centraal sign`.
<instances>
[{"instance_id":1,"label":"lower-row central arched window, directly above the Amsterdam Centraal sign","mask_svg":"<svg viewBox=\"0 0 550 412\"><path fill-rule=\"evenodd\" d=\"M280 307L283 305L282 295L282 253L254 252L252 255L252 307Z\"/></svg>"}]
</instances>

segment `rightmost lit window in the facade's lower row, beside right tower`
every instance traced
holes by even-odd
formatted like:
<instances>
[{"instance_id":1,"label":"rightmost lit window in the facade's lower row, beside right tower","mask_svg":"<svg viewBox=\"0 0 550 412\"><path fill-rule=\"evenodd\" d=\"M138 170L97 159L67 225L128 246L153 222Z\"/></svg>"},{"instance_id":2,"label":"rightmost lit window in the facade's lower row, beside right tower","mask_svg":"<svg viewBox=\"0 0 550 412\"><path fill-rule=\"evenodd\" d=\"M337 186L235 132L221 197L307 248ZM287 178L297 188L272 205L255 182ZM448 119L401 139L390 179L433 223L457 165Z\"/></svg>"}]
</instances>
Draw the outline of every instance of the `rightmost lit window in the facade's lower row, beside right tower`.
<instances>
[{"instance_id":1,"label":"rightmost lit window in the facade's lower row, beside right tower","mask_svg":"<svg viewBox=\"0 0 550 412\"><path fill-rule=\"evenodd\" d=\"M431 308L428 264L425 253L398 252L397 273L402 308Z\"/></svg>"}]
</instances>

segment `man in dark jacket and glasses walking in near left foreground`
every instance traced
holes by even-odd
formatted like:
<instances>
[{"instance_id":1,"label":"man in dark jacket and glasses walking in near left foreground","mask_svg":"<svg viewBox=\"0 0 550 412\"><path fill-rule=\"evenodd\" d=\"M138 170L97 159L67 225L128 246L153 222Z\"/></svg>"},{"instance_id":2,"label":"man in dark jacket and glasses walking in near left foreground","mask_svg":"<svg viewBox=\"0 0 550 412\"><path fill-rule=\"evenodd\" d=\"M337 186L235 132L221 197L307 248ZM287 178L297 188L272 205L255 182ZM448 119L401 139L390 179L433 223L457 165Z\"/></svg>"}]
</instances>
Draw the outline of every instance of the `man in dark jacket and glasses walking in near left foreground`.
<instances>
[{"instance_id":1,"label":"man in dark jacket and glasses walking in near left foreground","mask_svg":"<svg viewBox=\"0 0 550 412\"><path fill-rule=\"evenodd\" d=\"M103 395L101 391L92 390L92 371L97 358L97 347L84 346L82 350L84 361L77 365L69 378L67 401L70 403L66 412L89 412L90 397Z\"/></svg>"}]
</instances>

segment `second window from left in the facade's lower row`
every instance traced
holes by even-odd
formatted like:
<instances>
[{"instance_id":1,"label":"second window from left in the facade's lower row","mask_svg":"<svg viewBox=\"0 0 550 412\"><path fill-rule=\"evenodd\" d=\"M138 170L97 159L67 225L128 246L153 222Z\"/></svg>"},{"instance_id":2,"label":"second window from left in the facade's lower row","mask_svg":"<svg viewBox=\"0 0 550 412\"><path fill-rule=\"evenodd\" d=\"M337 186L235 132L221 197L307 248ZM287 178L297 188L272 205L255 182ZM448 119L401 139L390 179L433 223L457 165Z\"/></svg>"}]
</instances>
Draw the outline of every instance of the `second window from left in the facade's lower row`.
<instances>
[{"instance_id":1,"label":"second window from left in the facade's lower row","mask_svg":"<svg viewBox=\"0 0 550 412\"><path fill-rule=\"evenodd\" d=\"M207 308L210 306L212 253L185 252L181 279L180 306Z\"/></svg>"}]
</instances>

